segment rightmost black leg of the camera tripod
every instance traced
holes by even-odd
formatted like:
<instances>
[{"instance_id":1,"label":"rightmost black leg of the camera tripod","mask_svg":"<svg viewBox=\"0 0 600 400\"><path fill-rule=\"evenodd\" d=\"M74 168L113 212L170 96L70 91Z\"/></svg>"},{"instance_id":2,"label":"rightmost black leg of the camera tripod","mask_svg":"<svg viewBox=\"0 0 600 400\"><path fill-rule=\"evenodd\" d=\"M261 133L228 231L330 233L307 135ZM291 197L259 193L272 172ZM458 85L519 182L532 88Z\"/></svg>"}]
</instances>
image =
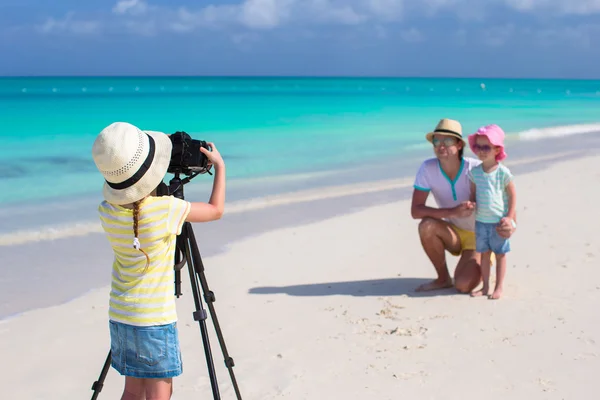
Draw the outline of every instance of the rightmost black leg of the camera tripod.
<instances>
[{"instance_id":1,"label":"rightmost black leg of the camera tripod","mask_svg":"<svg viewBox=\"0 0 600 400\"><path fill-rule=\"evenodd\" d=\"M233 384L233 389L235 390L235 394L238 400L242 399L242 395L240 394L240 390L237 385L237 380L235 378L235 374L233 373L233 367L235 365L233 358L229 356L229 352L227 351L227 346L225 345L225 340L223 339L223 333L221 332L221 326L219 325L219 320L217 319L217 314L214 308L213 303L216 301L215 294L209 289L208 283L206 281L206 276L204 275L204 264L202 263L202 257L200 256L200 250L198 250L198 244L196 243L196 238L194 236L194 231L192 230L191 224L188 223L188 226L185 227L186 235L188 237L190 246L191 246L191 255L193 260L193 266L196 274L200 279L200 284L202 286L202 291L204 292L204 300L206 301L206 305L210 311L211 319L215 326L215 331L217 333L217 338L219 340L219 344L221 345L221 351L223 352L223 357L225 359L225 366L229 371L229 376L231 378L231 382ZM188 256L189 257L189 256ZM189 260L189 258L188 258ZM190 270L190 279L192 272ZM195 278L192 279L194 281L194 285L196 286ZM197 288L196 288L197 290ZM198 307L197 307L198 308ZM204 318L206 318L206 312L202 310L204 313Z\"/></svg>"}]
</instances>

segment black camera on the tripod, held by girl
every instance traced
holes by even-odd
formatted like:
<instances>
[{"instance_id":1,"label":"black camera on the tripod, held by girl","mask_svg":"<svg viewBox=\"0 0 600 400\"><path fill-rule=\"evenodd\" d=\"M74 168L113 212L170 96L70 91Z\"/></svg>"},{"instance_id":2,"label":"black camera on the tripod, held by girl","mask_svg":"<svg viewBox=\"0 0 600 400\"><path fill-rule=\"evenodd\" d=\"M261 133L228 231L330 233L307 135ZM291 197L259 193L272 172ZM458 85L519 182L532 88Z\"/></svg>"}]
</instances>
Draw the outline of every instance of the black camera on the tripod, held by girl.
<instances>
[{"instance_id":1,"label":"black camera on the tripod, held by girl","mask_svg":"<svg viewBox=\"0 0 600 400\"><path fill-rule=\"evenodd\" d=\"M208 172L208 158L200 151L200 147L211 150L204 140L192 139L186 132L178 131L169 136L173 150L167 172L171 174L192 175Z\"/></svg>"}]
</instances>

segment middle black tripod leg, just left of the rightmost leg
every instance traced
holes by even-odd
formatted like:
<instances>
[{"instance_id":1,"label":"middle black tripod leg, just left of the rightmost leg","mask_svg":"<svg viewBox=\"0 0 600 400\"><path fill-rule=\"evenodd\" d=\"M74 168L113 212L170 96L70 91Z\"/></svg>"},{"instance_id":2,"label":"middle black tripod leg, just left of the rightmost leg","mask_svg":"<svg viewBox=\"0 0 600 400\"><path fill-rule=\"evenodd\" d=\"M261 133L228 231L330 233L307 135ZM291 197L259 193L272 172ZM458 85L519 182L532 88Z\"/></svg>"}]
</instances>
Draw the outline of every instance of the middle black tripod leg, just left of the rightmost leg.
<instances>
[{"instance_id":1,"label":"middle black tripod leg, just left of the rightmost leg","mask_svg":"<svg viewBox=\"0 0 600 400\"><path fill-rule=\"evenodd\" d=\"M210 342L208 339L208 330L206 329L206 311L202 308L202 301L200 299L200 291L198 289L198 281L194 273L196 260L193 253L190 254L190 245L195 245L195 242L190 240L190 234L192 233L192 227L189 222L184 223L182 229L182 236L185 237L185 257L187 259L188 270L190 272L190 284L192 285L192 292L194 294L194 302L196 304L196 311L194 312L194 320L198 321L200 325L200 334L202 335L202 343L204 344L204 354L206 356L206 365L208 367L208 374L210 377L210 384L213 391L213 397L215 400L220 400L221 395L219 394L219 386L217 384L217 375L215 373L215 366L212 359L212 352L210 349Z\"/></svg>"}]
</instances>

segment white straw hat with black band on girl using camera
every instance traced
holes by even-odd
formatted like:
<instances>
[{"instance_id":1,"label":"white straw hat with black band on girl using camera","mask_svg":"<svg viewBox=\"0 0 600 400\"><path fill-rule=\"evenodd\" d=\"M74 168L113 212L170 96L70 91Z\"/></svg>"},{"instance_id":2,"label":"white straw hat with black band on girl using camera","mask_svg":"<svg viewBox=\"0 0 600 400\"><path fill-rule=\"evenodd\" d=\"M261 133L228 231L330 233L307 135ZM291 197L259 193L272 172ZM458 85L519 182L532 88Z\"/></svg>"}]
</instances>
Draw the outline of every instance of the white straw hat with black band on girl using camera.
<instances>
[{"instance_id":1,"label":"white straw hat with black band on girl using camera","mask_svg":"<svg viewBox=\"0 0 600 400\"><path fill-rule=\"evenodd\" d=\"M106 201L129 204L152 193L167 173L171 149L169 136L161 132L142 131L126 122L104 128L92 156L105 179Z\"/></svg>"}]
</instances>

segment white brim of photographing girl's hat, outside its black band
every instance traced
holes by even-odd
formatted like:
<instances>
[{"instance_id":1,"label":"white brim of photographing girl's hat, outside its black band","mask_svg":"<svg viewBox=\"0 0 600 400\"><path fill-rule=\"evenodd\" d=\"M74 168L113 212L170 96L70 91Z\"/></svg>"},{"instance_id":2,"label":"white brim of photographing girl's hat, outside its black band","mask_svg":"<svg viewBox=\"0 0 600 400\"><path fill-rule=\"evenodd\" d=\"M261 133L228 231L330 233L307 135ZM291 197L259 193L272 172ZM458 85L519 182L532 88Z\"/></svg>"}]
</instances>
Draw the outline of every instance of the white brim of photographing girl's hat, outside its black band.
<instances>
[{"instance_id":1,"label":"white brim of photographing girl's hat, outside its black band","mask_svg":"<svg viewBox=\"0 0 600 400\"><path fill-rule=\"evenodd\" d=\"M151 136L156 144L152 164L139 181L126 189L113 189L104 182L102 194L104 199L109 203L116 205L135 203L152 193L167 174L167 169L171 163L171 151L173 148L171 139L162 132L143 132Z\"/></svg>"}]
</instances>

